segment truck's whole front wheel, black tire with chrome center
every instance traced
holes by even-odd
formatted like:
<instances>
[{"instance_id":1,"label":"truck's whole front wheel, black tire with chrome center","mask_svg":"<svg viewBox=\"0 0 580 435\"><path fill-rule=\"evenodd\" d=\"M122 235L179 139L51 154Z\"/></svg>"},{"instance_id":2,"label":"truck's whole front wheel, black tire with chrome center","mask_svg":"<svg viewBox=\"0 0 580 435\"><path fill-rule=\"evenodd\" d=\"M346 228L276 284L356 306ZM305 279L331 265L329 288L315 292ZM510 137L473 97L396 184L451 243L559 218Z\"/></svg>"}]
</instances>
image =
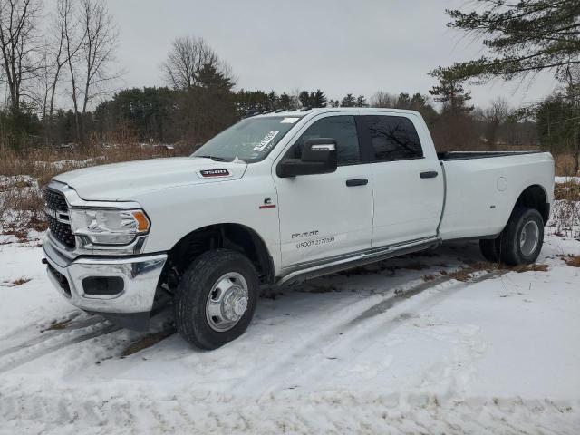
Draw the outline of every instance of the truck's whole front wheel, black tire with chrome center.
<instances>
[{"instance_id":1,"label":"truck's whole front wheel, black tire with chrome center","mask_svg":"<svg viewBox=\"0 0 580 435\"><path fill-rule=\"evenodd\" d=\"M217 349L246 332L256 311L256 268L228 249L208 251L181 276L174 310L179 334L201 349Z\"/></svg>"}]
</instances>

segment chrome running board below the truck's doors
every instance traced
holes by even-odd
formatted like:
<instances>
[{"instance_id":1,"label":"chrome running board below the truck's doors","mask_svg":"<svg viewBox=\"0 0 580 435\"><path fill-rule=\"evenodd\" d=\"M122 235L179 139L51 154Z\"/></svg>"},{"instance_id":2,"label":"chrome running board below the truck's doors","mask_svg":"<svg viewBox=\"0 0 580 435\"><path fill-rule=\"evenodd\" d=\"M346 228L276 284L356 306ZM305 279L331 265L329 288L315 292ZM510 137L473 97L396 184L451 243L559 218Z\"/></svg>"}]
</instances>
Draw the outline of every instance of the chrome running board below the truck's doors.
<instances>
[{"instance_id":1,"label":"chrome running board below the truck's doors","mask_svg":"<svg viewBox=\"0 0 580 435\"><path fill-rule=\"evenodd\" d=\"M439 237L432 237L427 240L423 239L416 243L411 243L397 247L384 247L380 250L372 249L365 251L356 256L349 256L339 260L330 261L318 266L307 267L302 270L296 270L288 275L282 276L275 283L278 286L291 285L308 279L316 278L318 276L334 274L342 270L351 269L353 267L365 266L377 261L387 260L395 256L404 256L413 252L422 251L438 247L441 244Z\"/></svg>"}]
</instances>

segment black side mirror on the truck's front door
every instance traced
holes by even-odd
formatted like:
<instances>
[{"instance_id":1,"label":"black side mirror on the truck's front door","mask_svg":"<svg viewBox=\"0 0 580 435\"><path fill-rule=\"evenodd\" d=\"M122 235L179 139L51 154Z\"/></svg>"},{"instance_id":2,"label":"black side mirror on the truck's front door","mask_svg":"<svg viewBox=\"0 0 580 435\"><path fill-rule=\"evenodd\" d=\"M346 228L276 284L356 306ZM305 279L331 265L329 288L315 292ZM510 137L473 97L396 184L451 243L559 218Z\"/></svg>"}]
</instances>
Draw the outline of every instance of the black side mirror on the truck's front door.
<instances>
[{"instance_id":1,"label":"black side mirror on the truck's front door","mask_svg":"<svg viewBox=\"0 0 580 435\"><path fill-rule=\"evenodd\" d=\"M318 138L307 140L302 150L302 159L284 159L276 168L280 178L296 175L328 174L338 166L336 140Z\"/></svg>"}]
</instances>

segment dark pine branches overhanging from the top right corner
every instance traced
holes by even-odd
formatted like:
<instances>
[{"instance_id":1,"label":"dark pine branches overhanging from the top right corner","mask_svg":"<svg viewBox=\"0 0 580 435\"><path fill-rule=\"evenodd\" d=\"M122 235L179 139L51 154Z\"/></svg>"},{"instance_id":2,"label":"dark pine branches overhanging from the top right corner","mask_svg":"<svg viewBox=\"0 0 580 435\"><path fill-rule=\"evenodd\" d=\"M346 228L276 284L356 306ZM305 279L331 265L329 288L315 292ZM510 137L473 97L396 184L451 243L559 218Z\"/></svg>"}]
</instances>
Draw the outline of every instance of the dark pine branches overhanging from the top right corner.
<instances>
[{"instance_id":1,"label":"dark pine branches overhanging from the top right corner","mask_svg":"<svg viewBox=\"0 0 580 435\"><path fill-rule=\"evenodd\" d=\"M580 64L580 0L478 0L471 12L447 11L448 26L479 38L489 54L445 73L464 80L511 80Z\"/></svg>"}]
</instances>

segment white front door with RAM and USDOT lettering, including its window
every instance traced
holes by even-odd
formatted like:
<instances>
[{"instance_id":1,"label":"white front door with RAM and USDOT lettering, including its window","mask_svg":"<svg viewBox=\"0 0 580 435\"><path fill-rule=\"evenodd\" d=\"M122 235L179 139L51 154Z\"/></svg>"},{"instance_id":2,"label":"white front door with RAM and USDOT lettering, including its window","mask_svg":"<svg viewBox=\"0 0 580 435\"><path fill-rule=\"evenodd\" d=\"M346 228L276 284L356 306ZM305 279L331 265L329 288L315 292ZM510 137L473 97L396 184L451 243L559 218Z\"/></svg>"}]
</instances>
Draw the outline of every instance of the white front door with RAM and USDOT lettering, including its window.
<instances>
[{"instance_id":1,"label":"white front door with RAM and USDOT lettering, including its window","mask_svg":"<svg viewBox=\"0 0 580 435\"><path fill-rule=\"evenodd\" d=\"M369 164L362 163L354 116L314 118L283 159L300 159L304 142L316 138L336 140L335 172L280 178L274 169L283 269L371 247L372 179Z\"/></svg>"}]
</instances>

